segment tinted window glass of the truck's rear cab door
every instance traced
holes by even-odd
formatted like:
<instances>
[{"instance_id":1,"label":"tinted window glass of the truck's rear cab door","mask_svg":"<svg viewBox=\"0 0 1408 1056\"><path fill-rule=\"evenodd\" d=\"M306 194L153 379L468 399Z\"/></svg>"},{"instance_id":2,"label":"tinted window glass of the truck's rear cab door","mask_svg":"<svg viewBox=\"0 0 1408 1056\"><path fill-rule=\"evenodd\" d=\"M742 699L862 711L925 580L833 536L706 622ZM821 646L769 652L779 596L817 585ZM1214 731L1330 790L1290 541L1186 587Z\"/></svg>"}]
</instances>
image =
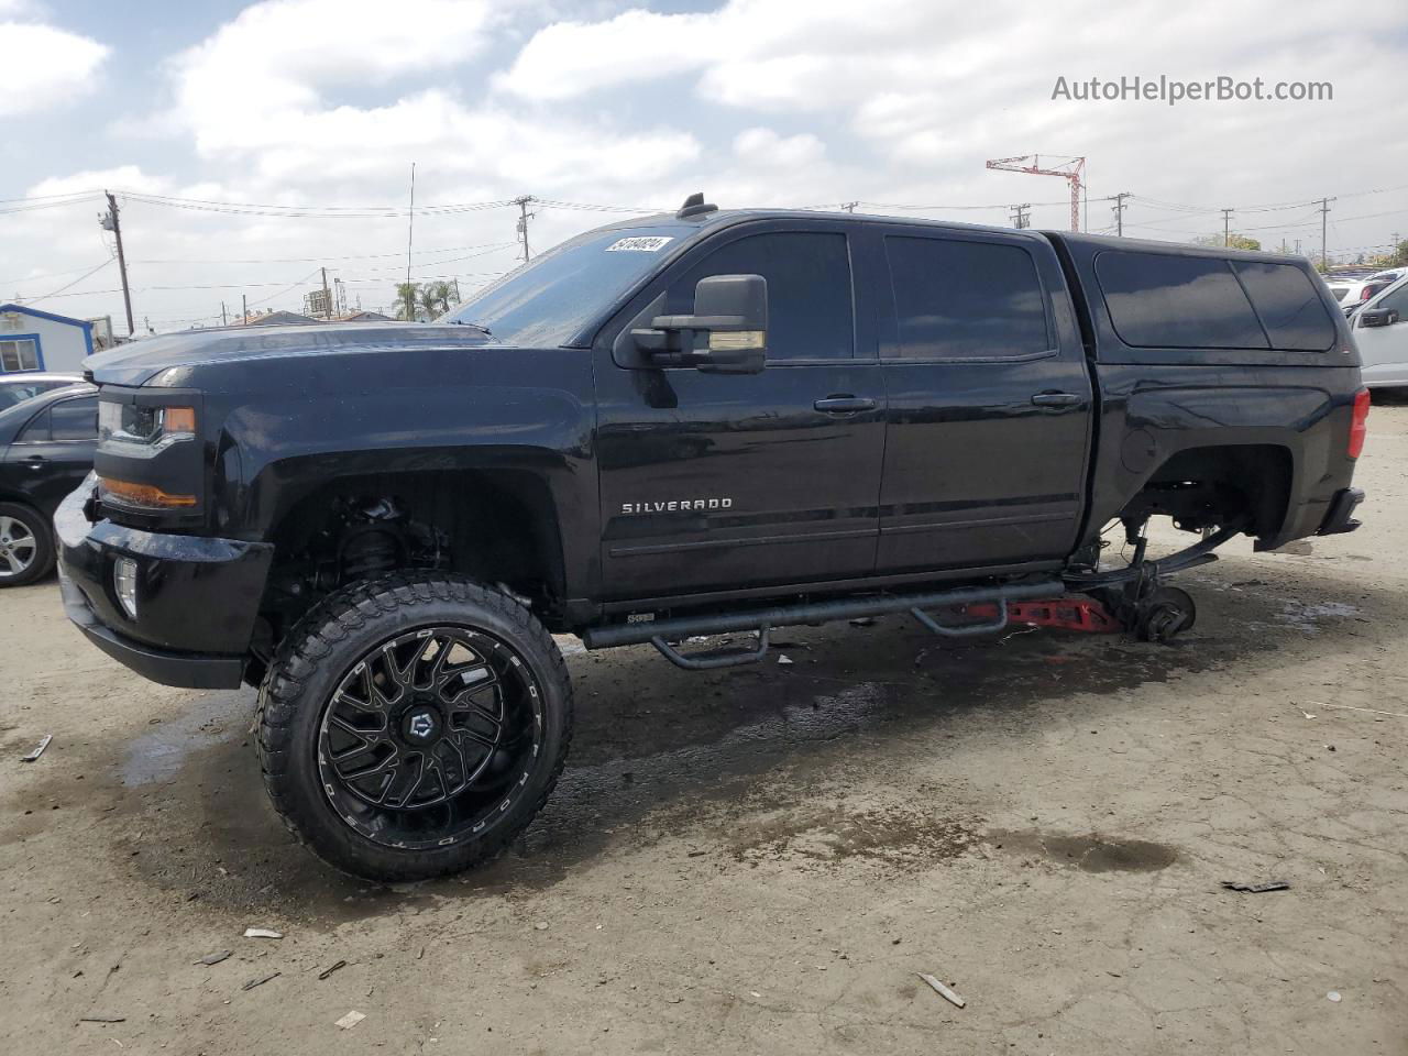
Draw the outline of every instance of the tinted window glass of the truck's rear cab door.
<instances>
[{"instance_id":1,"label":"tinted window glass of the truck's rear cab door","mask_svg":"<svg viewBox=\"0 0 1408 1056\"><path fill-rule=\"evenodd\" d=\"M1032 255L1017 245L888 237L905 359L997 359L1052 348Z\"/></svg>"}]
</instances>

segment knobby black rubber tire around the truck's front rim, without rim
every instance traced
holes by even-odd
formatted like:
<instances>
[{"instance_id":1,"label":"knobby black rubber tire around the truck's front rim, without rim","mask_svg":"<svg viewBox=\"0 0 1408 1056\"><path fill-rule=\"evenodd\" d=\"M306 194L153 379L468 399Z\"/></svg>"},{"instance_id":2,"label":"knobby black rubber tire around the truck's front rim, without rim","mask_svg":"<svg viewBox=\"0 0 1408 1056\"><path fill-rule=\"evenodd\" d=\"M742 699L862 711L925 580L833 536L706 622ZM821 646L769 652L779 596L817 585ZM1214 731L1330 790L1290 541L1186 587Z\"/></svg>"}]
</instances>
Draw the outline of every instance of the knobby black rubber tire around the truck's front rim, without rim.
<instances>
[{"instance_id":1,"label":"knobby black rubber tire around the truck's front rim, without rim","mask_svg":"<svg viewBox=\"0 0 1408 1056\"><path fill-rule=\"evenodd\" d=\"M541 750L513 803L483 832L452 846L407 850L366 838L334 810L318 772L320 724L332 693L369 649L438 624L486 632L522 658L539 687ZM386 883L427 880L493 857L532 822L566 762L572 712L562 653L524 605L463 576L391 573L327 597L286 635L259 689L259 765L289 831L329 866Z\"/></svg>"}]
</instances>

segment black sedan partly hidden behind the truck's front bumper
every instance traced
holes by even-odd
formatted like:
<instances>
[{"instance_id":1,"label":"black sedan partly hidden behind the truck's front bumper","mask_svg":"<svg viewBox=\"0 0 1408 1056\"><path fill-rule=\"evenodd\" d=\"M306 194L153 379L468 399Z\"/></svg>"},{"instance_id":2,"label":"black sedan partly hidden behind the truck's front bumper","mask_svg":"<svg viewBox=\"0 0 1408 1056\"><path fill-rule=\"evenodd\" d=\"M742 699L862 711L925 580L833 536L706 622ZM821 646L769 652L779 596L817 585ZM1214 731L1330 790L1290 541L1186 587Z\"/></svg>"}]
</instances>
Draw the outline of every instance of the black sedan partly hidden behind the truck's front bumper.
<instances>
[{"instance_id":1,"label":"black sedan partly hidden behind the truck's front bumper","mask_svg":"<svg viewBox=\"0 0 1408 1056\"><path fill-rule=\"evenodd\" d=\"M68 384L0 410L0 587L54 567L51 518L93 469L97 389Z\"/></svg>"}]
</instances>

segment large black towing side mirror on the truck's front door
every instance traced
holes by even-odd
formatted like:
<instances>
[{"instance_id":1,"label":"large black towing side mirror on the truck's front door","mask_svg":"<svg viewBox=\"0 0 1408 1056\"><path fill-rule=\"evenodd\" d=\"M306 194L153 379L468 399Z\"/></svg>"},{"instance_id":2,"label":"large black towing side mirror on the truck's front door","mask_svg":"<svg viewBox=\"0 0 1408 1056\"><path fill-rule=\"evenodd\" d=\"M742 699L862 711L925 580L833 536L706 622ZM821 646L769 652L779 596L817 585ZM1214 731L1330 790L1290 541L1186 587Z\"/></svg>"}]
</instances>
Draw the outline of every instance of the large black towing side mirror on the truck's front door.
<instances>
[{"instance_id":1,"label":"large black towing side mirror on the truck's front door","mask_svg":"<svg viewBox=\"0 0 1408 1056\"><path fill-rule=\"evenodd\" d=\"M767 280L760 275L700 279L693 315L656 315L649 329L634 329L631 337L652 366L760 373L767 362Z\"/></svg>"}]
</instances>

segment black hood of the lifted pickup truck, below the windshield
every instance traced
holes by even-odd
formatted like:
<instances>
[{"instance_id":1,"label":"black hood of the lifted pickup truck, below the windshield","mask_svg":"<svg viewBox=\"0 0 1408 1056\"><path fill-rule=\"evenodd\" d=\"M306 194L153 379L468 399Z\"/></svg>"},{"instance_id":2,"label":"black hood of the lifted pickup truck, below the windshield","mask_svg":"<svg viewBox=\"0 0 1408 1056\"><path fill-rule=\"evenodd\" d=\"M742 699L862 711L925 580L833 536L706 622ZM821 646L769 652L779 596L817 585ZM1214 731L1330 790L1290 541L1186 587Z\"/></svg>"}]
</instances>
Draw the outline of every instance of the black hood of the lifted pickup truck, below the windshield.
<instances>
[{"instance_id":1,"label":"black hood of the lifted pickup truck, below the windshield","mask_svg":"<svg viewBox=\"0 0 1408 1056\"><path fill-rule=\"evenodd\" d=\"M99 352L83 369L100 384L199 384L196 367L328 352L394 352L407 348L484 348L477 327L435 322L329 322L291 327L220 327L142 338Z\"/></svg>"}]
</instances>

